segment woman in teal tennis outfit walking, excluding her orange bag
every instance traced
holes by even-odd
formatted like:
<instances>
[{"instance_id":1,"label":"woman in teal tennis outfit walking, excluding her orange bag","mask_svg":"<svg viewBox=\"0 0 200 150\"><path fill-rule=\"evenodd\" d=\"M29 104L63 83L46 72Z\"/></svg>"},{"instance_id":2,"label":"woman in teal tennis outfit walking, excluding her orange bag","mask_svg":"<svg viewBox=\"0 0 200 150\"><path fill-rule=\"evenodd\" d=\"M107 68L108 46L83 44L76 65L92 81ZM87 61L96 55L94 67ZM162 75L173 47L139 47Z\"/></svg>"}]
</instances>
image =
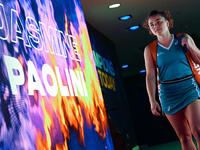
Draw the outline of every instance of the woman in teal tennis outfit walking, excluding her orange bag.
<instances>
[{"instance_id":1,"label":"woman in teal tennis outfit walking, excluding her orange bag","mask_svg":"<svg viewBox=\"0 0 200 150\"><path fill-rule=\"evenodd\" d=\"M157 37L158 68L154 64L149 45L144 50L151 111L156 116L161 115L161 107L155 99L157 70L162 110L173 126L182 149L196 150L192 141L193 134L200 150L200 91L192 77L183 46L187 46L197 64L200 64L200 51L188 34L182 38L181 44L178 43L169 31L173 27L173 19L168 11L152 11L146 18L144 27Z\"/></svg>"}]
</instances>

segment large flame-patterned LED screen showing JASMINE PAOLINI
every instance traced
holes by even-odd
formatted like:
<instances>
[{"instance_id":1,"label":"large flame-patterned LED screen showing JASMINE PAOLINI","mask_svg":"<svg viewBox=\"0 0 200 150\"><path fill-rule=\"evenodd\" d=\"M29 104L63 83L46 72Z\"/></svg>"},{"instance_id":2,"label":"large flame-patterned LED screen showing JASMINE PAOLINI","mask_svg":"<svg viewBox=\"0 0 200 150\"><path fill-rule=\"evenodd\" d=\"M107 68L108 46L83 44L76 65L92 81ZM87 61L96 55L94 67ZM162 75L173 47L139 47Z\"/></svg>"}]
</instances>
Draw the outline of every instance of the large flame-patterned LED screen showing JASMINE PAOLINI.
<instances>
[{"instance_id":1,"label":"large flame-patterned LED screen showing JASMINE PAOLINI","mask_svg":"<svg viewBox=\"0 0 200 150\"><path fill-rule=\"evenodd\" d=\"M113 149L79 0L0 0L0 149Z\"/></svg>"}]
</instances>

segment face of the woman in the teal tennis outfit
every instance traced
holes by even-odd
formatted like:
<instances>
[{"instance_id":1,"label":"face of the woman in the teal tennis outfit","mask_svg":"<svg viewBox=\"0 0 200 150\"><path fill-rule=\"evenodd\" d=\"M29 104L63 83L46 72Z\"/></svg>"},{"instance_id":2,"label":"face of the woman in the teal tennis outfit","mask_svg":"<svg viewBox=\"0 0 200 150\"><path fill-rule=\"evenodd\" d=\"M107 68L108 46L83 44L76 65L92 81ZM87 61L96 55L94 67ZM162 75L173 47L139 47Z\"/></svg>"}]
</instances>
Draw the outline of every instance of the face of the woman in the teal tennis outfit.
<instances>
[{"instance_id":1,"label":"face of the woman in the teal tennis outfit","mask_svg":"<svg viewBox=\"0 0 200 150\"><path fill-rule=\"evenodd\" d=\"M151 32L156 36L169 31L169 21L161 15L151 16L148 20L148 24Z\"/></svg>"}]
</instances>

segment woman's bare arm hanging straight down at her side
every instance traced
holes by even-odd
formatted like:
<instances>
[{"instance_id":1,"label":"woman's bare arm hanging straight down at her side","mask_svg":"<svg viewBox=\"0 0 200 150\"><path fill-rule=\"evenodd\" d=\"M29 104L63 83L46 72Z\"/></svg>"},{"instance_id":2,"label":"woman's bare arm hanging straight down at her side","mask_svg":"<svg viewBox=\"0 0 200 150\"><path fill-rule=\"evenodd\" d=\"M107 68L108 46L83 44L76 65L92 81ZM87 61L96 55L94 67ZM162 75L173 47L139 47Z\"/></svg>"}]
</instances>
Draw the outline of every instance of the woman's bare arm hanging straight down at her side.
<instances>
[{"instance_id":1,"label":"woman's bare arm hanging straight down at her side","mask_svg":"<svg viewBox=\"0 0 200 150\"><path fill-rule=\"evenodd\" d=\"M149 46L145 47L144 50L144 59L146 67L146 86L147 93L149 96L149 102L151 105L151 111L154 115L160 116L161 108L158 102L155 99L156 94L156 68L151 56Z\"/></svg>"}]
</instances>

